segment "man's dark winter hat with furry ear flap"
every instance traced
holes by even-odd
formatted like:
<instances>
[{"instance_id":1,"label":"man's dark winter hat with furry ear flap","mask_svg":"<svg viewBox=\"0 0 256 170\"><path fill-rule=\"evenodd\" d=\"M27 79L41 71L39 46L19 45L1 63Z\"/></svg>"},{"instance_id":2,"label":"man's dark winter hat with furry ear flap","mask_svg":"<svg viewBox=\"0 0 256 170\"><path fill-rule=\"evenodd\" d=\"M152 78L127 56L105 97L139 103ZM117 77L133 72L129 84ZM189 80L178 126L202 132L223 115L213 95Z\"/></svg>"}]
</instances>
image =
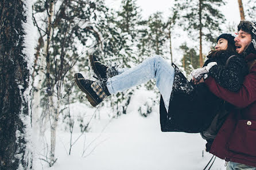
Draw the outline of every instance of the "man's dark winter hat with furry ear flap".
<instances>
[{"instance_id":1,"label":"man's dark winter hat with furry ear flap","mask_svg":"<svg viewBox=\"0 0 256 170\"><path fill-rule=\"evenodd\" d=\"M245 52L243 52L245 56L250 53L256 54L256 22L241 21L238 25L238 31L239 30L243 30L246 33L251 34L251 43L245 49Z\"/></svg>"}]
</instances>

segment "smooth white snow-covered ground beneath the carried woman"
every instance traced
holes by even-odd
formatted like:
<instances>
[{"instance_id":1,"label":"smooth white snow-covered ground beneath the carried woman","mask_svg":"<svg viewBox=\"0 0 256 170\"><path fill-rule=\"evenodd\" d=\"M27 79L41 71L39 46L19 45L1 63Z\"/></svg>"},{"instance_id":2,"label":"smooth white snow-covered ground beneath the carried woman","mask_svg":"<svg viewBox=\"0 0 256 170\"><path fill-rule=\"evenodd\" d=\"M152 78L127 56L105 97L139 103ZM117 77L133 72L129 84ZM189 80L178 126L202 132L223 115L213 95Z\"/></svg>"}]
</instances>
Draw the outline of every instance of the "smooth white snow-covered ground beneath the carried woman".
<instances>
[{"instance_id":1,"label":"smooth white snow-covered ground beneath the carried woman","mask_svg":"<svg viewBox=\"0 0 256 170\"><path fill-rule=\"evenodd\" d=\"M72 147L71 155L68 155L70 134L59 129L56 145L58 160L51 168L45 161L34 160L36 169L203 169L212 155L204 151L205 141L199 134L161 132L158 105L148 117L138 113L138 106L154 95L139 90L131 99L127 114L112 120L101 115L100 120L94 120L91 132L79 138ZM78 112L81 108L83 106L80 105L73 110ZM86 106L84 109L87 109ZM90 112L94 110L90 109ZM107 114L107 108L102 110L104 112L100 110L100 114ZM73 140L80 134L76 131ZM38 148L37 153L42 153L42 150ZM216 159L211 169L224 170L224 163Z\"/></svg>"}]
</instances>

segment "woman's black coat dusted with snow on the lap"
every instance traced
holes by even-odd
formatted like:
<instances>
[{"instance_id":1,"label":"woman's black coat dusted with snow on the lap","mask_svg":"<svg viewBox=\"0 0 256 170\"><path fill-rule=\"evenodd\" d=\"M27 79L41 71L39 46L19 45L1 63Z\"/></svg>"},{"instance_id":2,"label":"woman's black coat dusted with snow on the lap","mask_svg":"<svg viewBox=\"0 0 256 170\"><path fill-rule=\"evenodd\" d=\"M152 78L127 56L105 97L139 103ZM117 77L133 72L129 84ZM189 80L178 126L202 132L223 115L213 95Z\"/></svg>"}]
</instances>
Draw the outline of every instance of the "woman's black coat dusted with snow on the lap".
<instances>
[{"instance_id":1,"label":"woman's black coat dusted with snow on the lap","mask_svg":"<svg viewBox=\"0 0 256 170\"><path fill-rule=\"evenodd\" d=\"M246 61L241 56L227 59L234 53L223 52L219 56L205 61L204 65L216 61L208 73L211 77L230 91L237 91L248 73ZM160 123L162 132L203 132L223 106L223 100L210 92L204 83L194 85L175 69L172 94L170 95L169 112L166 112L164 101L160 100Z\"/></svg>"}]
</instances>

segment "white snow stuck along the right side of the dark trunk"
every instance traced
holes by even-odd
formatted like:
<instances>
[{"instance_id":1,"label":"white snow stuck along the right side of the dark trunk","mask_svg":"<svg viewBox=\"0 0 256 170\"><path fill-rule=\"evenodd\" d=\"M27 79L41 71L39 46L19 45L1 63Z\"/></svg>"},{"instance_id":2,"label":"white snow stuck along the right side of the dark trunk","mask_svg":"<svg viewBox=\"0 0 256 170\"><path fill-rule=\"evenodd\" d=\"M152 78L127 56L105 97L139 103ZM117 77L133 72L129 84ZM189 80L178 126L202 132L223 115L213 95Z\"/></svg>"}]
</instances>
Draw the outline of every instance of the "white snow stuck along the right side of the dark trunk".
<instances>
[{"instance_id":1,"label":"white snow stuck along the right side of the dark trunk","mask_svg":"<svg viewBox=\"0 0 256 170\"><path fill-rule=\"evenodd\" d=\"M25 35L24 35L24 49L22 50L22 53L25 55L25 61L27 62L27 69L29 70L29 74L32 75L33 72L33 63L34 63L34 47L35 47L35 37L36 37L36 30L34 29L33 22L32 22L32 3L33 1L24 1L24 15L26 16L26 22L22 23L22 27L24 28ZM20 88L20 94L22 98L23 104L28 104L28 114L24 114L24 105L21 106L21 112L20 112L20 118L22 122L24 123L24 134L22 134L20 131L16 131L16 142L20 144L20 148L17 148L15 158L20 159L18 170L24 169L24 163L22 161L26 161L26 164L28 167L31 167L32 163L32 152L33 152L33 145L32 145L32 126L30 124L30 104L32 101L32 97L30 95L31 89L32 89L32 78L30 77L29 80L26 79L28 82L28 87L25 89L25 91L22 93L22 89L24 87L22 85L18 85L18 88ZM23 97L24 101L23 101ZM25 140L26 144L22 144L21 140ZM25 148L25 155L22 155L19 153L21 149ZM24 159L24 160L22 160ZM30 169L30 168L28 168Z\"/></svg>"}]
</instances>

